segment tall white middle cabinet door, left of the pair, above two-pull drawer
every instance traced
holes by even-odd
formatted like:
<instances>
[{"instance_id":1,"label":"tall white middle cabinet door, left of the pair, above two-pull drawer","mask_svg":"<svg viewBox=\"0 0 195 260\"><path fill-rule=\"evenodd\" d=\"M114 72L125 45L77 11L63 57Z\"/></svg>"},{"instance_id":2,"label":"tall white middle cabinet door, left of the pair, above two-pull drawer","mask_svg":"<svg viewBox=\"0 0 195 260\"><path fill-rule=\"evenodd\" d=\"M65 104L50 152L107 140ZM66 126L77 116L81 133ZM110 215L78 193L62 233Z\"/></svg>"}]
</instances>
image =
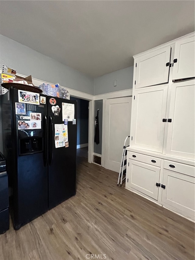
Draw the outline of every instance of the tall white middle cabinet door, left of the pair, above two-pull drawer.
<instances>
[{"instance_id":1,"label":"tall white middle cabinet door, left of the pair, above two-pull drawer","mask_svg":"<svg viewBox=\"0 0 195 260\"><path fill-rule=\"evenodd\" d=\"M164 142L167 85L141 88L134 92L131 146L162 153Z\"/></svg>"}]
</instances>

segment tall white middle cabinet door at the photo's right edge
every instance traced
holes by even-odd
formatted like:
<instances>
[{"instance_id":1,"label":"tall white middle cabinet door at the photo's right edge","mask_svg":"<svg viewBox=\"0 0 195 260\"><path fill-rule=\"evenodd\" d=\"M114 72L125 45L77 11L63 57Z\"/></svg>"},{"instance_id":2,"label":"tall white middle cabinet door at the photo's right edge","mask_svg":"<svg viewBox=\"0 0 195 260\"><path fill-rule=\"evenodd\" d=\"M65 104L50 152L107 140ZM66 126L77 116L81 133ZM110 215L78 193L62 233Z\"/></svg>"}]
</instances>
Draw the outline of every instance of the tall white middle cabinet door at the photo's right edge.
<instances>
[{"instance_id":1,"label":"tall white middle cabinet door at the photo's right edge","mask_svg":"<svg viewBox=\"0 0 195 260\"><path fill-rule=\"evenodd\" d=\"M191 81L190 81L191 82ZM195 85L173 83L168 122L166 154L194 159L195 153ZM170 121L170 120L168 120Z\"/></svg>"}]
</instances>

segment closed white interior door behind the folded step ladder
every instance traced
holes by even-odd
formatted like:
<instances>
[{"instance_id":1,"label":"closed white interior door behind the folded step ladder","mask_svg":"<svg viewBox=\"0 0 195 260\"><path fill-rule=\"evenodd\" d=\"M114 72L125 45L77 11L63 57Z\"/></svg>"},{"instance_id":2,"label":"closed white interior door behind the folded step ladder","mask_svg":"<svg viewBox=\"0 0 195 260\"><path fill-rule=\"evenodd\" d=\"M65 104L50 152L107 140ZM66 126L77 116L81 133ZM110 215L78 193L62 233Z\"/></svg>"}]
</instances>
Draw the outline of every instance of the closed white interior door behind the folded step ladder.
<instances>
[{"instance_id":1,"label":"closed white interior door behind the folded step ladder","mask_svg":"<svg viewBox=\"0 0 195 260\"><path fill-rule=\"evenodd\" d=\"M120 170L124 141L130 135L131 104L132 97L106 100L104 166L115 172Z\"/></svg>"}]
</instances>

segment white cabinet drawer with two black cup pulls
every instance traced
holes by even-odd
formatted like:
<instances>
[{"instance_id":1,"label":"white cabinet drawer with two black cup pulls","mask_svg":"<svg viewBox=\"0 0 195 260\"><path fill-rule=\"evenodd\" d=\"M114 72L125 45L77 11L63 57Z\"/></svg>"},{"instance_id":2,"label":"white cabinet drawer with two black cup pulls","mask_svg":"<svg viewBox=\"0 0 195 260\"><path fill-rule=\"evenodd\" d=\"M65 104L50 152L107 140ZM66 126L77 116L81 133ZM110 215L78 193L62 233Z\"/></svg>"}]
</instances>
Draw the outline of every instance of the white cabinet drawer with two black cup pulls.
<instances>
[{"instance_id":1,"label":"white cabinet drawer with two black cup pulls","mask_svg":"<svg viewBox=\"0 0 195 260\"><path fill-rule=\"evenodd\" d=\"M129 151L129 159L161 167L161 159Z\"/></svg>"}]
</instances>

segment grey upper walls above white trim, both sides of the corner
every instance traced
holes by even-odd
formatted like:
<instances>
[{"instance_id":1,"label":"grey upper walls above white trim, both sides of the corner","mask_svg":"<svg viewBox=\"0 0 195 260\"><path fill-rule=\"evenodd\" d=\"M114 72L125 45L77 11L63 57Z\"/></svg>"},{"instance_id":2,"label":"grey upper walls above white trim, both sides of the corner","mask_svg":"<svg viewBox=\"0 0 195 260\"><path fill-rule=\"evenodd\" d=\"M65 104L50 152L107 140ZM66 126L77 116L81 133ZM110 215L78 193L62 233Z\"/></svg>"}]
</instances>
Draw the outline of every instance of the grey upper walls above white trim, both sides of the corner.
<instances>
[{"instance_id":1,"label":"grey upper walls above white trim, both sides of the corner","mask_svg":"<svg viewBox=\"0 0 195 260\"><path fill-rule=\"evenodd\" d=\"M133 66L93 79L27 46L0 35L0 68L2 68L3 64L16 69L18 74L31 74L33 78L59 83L64 87L90 95L133 88ZM117 80L117 87L113 87L114 80ZM0 151L3 151L2 147L2 118L0 111Z\"/></svg>"}]
</instances>

